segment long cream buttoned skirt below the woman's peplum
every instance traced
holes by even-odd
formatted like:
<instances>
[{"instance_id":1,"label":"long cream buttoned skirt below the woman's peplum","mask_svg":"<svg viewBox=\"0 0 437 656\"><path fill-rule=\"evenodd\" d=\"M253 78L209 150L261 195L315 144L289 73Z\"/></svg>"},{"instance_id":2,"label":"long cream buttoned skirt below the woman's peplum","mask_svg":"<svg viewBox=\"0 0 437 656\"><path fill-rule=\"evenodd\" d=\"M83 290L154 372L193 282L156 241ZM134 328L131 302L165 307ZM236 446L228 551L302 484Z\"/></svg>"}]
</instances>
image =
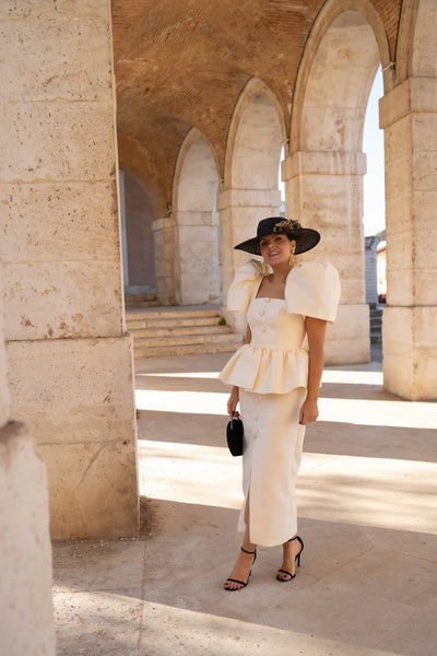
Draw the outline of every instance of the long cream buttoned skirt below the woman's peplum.
<instances>
[{"instance_id":1,"label":"long cream buttoned skirt below the woman's peplum","mask_svg":"<svg viewBox=\"0 0 437 656\"><path fill-rule=\"evenodd\" d=\"M287 394L239 390L245 503L238 530L249 522L255 544L273 547L296 535L295 487L305 436L299 409L305 395L303 387Z\"/></svg>"}]
</instances>

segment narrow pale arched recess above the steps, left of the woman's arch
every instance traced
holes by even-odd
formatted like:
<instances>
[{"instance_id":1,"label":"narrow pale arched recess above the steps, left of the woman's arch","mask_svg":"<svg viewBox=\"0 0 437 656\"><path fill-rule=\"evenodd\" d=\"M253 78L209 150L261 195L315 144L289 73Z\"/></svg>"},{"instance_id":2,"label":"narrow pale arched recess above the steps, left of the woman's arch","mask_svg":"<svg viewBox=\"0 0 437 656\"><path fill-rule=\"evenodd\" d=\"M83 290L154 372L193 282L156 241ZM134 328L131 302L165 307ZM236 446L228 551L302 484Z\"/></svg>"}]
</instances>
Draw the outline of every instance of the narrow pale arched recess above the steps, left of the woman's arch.
<instances>
[{"instance_id":1,"label":"narrow pale arched recess above the steps, left of the woman's arch","mask_svg":"<svg viewBox=\"0 0 437 656\"><path fill-rule=\"evenodd\" d=\"M221 302L217 191L215 153L203 134L192 128L178 154L173 191L178 305Z\"/></svg>"}]
</instances>

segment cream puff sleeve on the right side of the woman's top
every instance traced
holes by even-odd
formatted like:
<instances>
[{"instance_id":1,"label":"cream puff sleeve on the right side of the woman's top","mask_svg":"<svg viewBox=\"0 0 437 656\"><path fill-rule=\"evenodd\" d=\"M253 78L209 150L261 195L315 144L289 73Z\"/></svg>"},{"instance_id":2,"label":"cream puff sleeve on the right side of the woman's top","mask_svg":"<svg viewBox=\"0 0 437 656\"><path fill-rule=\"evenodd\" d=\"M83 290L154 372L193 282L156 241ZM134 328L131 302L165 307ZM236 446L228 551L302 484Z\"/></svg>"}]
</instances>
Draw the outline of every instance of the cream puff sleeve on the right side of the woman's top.
<instances>
[{"instance_id":1,"label":"cream puff sleeve on the right side of the woman's top","mask_svg":"<svg viewBox=\"0 0 437 656\"><path fill-rule=\"evenodd\" d=\"M329 262L303 262L288 273L285 285L286 309L288 313L333 324L340 291L340 277L335 267Z\"/></svg>"}]
</instances>

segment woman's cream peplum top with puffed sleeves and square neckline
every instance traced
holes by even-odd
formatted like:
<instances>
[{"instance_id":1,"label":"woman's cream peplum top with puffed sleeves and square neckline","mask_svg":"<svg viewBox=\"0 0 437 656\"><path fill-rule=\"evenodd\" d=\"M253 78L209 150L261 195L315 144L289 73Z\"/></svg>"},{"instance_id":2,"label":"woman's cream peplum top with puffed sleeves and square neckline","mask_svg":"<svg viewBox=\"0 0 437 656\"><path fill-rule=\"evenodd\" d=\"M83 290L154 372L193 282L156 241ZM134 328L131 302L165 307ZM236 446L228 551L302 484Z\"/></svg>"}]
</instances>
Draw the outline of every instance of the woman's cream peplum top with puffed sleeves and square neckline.
<instances>
[{"instance_id":1,"label":"woman's cream peplum top with puffed sleeves and square neckline","mask_svg":"<svg viewBox=\"0 0 437 656\"><path fill-rule=\"evenodd\" d=\"M284 300L256 298L261 279L260 262L251 260L229 288L227 307L247 313L251 342L234 353L218 377L259 394L286 394L307 386L305 317L334 320L339 274L331 265L304 262L288 274Z\"/></svg>"}]
</instances>

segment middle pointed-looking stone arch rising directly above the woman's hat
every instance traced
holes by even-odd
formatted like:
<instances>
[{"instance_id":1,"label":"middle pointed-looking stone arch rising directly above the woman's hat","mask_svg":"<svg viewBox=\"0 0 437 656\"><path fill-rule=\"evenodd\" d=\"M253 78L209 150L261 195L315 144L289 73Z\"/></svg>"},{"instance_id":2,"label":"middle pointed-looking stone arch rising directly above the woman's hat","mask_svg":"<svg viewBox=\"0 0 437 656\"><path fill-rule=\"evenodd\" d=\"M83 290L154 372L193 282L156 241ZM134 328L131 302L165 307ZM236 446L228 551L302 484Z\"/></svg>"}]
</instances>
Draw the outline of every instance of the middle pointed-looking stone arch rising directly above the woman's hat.
<instances>
[{"instance_id":1,"label":"middle pointed-looking stone arch rising directly above the woman's hat","mask_svg":"<svg viewBox=\"0 0 437 656\"><path fill-rule=\"evenodd\" d=\"M247 259L233 250L235 244L252 236L260 219L279 213L277 172L285 138L276 97L261 80L251 78L235 106L226 144L220 197L224 291Z\"/></svg>"}]
</instances>

